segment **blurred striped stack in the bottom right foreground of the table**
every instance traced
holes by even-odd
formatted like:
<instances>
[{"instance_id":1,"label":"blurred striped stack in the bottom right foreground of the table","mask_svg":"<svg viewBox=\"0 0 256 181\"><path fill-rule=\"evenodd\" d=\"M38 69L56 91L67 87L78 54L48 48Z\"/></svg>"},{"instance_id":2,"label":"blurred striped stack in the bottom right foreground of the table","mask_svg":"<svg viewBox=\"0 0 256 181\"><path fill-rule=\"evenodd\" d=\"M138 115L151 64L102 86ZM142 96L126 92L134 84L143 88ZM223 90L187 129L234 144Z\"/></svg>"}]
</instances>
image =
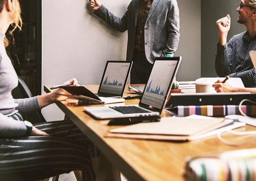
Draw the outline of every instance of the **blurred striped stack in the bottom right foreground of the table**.
<instances>
[{"instance_id":1,"label":"blurred striped stack in the bottom right foreground of the table","mask_svg":"<svg viewBox=\"0 0 256 181\"><path fill-rule=\"evenodd\" d=\"M236 152L227 158L195 157L187 159L185 179L189 181L255 181L256 149ZM249 155L245 155L249 152ZM241 155L244 155L241 157Z\"/></svg>"}]
</instances>

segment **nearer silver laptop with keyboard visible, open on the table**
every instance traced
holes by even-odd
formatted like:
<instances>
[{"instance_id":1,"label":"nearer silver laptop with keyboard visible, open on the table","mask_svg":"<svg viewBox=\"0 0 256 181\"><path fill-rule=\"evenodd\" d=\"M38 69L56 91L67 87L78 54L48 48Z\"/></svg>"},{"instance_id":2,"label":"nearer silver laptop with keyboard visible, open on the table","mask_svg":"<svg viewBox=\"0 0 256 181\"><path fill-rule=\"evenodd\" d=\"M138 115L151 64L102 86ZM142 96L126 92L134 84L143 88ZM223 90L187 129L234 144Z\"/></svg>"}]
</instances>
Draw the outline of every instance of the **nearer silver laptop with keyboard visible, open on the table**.
<instances>
[{"instance_id":1,"label":"nearer silver laptop with keyboard visible, open on the table","mask_svg":"<svg viewBox=\"0 0 256 181\"><path fill-rule=\"evenodd\" d=\"M139 105L84 107L97 119L159 116L176 77L181 57L156 58Z\"/></svg>"}]
</instances>

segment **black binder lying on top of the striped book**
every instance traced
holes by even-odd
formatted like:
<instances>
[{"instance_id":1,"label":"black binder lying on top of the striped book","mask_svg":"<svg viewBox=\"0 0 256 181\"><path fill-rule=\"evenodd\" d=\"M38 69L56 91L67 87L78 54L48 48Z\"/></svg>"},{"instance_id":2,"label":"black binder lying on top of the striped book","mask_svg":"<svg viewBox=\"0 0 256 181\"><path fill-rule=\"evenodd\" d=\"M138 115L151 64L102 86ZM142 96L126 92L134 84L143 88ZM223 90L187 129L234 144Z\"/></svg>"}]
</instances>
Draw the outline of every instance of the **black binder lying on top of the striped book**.
<instances>
[{"instance_id":1,"label":"black binder lying on top of the striped book","mask_svg":"<svg viewBox=\"0 0 256 181\"><path fill-rule=\"evenodd\" d=\"M239 105L244 99L256 101L256 93L172 93L165 107L178 105ZM252 105L248 101L244 105Z\"/></svg>"}]
</instances>

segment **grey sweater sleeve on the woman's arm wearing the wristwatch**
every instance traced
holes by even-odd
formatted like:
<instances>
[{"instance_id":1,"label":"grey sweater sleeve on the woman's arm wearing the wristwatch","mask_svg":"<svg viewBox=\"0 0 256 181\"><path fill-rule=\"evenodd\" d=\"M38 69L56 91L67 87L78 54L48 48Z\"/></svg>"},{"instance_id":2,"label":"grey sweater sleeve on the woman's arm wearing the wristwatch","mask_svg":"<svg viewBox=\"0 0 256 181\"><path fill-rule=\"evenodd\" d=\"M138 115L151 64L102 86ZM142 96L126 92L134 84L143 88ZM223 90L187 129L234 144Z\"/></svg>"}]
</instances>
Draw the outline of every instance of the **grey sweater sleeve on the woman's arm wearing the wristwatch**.
<instances>
[{"instance_id":1,"label":"grey sweater sleeve on the woman's arm wearing the wristwatch","mask_svg":"<svg viewBox=\"0 0 256 181\"><path fill-rule=\"evenodd\" d=\"M23 121L17 121L0 113L0 138L24 136L27 127Z\"/></svg>"}]
</instances>

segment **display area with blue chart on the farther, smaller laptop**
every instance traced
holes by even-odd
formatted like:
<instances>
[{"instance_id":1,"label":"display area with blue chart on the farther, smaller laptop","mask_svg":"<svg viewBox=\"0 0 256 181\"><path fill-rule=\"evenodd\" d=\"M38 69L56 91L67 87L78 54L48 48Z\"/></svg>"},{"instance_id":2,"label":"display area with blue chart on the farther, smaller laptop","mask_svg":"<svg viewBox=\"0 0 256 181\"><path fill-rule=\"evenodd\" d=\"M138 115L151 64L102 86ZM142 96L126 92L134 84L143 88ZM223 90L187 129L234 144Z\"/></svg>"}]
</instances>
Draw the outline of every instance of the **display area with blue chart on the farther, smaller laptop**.
<instances>
[{"instance_id":1,"label":"display area with blue chart on the farther, smaller laptop","mask_svg":"<svg viewBox=\"0 0 256 181\"><path fill-rule=\"evenodd\" d=\"M121 94L125 86L125 78L129 71L130 63L127 62L109 62L103 75L99 92L109 94Z\"/></svg>"}]
</instances>

